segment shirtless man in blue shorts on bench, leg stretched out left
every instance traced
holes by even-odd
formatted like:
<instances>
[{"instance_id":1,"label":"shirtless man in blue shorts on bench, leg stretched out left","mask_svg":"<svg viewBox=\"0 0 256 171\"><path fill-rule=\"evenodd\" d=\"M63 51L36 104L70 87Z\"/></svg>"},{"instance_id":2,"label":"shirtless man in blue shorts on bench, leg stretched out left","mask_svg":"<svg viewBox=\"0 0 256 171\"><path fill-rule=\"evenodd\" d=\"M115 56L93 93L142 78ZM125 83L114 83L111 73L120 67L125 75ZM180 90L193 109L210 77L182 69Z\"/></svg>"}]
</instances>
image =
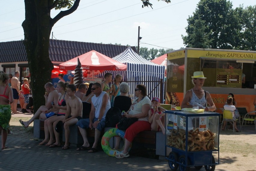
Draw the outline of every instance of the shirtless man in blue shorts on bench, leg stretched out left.
<instances>
[{"instance_id":1,"label":"shirtless man in blue shorts on bench, leg stretched out left","mask_svg":"<svg viewBox=\"0 0 256 171\"><path fill-rule=\"evenodd\" d=\"M54 88L53 84L51 82L47 82L44 85L45 91L47 92L48 96L45 94L44 98L45 98L45 106L40 106L39 109L36 111L36 113L34 114L34 116L29 119L29 121L22 121L20 119L20 124L24 127L24 128L28 128L29 125L35 120L35 119L47 119L51 116L54 115L54 112L52 113L44 113L44 111L49 110L52 108L52 102L54 104L58 103L58 98L59 98L59 93L57 92L57 90Z\"/></svg>"}]
</instances>

